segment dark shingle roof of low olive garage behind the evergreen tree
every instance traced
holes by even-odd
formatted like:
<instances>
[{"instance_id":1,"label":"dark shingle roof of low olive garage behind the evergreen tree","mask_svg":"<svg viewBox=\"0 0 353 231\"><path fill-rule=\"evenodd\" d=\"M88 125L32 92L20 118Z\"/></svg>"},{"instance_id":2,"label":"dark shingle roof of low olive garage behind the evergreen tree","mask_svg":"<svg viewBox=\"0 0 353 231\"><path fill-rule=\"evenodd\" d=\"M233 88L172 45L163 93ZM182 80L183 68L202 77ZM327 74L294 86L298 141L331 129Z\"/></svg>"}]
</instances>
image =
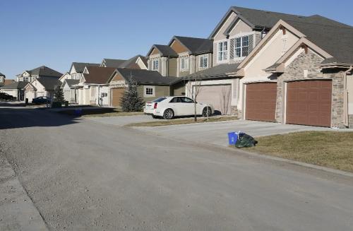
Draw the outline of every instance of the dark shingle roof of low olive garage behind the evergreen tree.
<instances>
[{"instance_id":1,"label":"dark shingle roof of low olive garage behind the evergreen tree","mask_svg":"<svg viewBox=\"0 0 353 231\"><path fill-rule=\"evenodd\" d=\"M162 76L158 71L148 71L141 69L116 69L121 73L121 76L129 81L133 78L138 84L150 84L150 85L171 85L176 81L180 81L181 78Z\"/></svg>"}]
</instances>

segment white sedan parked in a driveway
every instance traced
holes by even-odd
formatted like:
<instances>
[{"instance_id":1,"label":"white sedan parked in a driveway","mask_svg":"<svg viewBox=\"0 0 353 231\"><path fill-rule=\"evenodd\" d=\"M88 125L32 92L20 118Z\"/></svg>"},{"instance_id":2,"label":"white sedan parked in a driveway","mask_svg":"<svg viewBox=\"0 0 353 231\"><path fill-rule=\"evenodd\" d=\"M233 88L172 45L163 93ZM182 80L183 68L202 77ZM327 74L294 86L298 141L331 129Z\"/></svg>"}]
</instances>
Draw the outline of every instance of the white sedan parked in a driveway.
<instances>
[{"instance_id":1,"label":"white sedan parked in a driveway","mask_svg":"<svg viewBox=\"0 0 353 231\"><path fill-rule=\"evenodd\" d=\"M159 97L152 102L146 102L145 114L152 115L153 118L163 117L164 119L173 119L179 116L188 116L195 114L194 102L191 98L185 96L165 96ZM212 105L196 102L196 114L203 117L213 114Z\"/></svg>"}]
</instances>

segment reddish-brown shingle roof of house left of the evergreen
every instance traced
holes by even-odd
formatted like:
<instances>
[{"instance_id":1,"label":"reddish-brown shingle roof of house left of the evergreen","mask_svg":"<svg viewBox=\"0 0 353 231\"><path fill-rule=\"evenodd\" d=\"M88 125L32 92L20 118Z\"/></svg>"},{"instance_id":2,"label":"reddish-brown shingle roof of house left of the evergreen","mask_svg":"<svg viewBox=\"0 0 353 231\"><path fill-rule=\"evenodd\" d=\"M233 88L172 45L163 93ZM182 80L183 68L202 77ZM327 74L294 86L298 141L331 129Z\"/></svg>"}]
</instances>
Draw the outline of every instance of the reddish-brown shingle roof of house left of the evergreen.
<instances>
[{"instance_id":1,"label":"reddish-brown shingle roof of house left of the evergreen","mask_svg":"<svg viewBox=\"0 0 353 231\"><path fill-rule=\"evenodd\" d=\"M105 84L109 80L112 73L114 73L114 67L100 67L100 66L88 66L88 73L84 73L85 83Z\"/></svg>"}]
</instances>

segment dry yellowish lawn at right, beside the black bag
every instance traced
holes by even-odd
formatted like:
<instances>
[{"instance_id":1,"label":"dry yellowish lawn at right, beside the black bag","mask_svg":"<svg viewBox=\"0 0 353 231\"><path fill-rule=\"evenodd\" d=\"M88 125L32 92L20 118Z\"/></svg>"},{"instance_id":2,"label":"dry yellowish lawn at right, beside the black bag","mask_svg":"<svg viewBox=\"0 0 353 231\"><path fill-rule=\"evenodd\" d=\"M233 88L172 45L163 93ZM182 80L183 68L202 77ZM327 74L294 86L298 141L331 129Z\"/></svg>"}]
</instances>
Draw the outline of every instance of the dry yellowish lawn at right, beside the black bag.
<instances>
[{"instance_id":1,"label":"dry yellowish lawn at right, beside the black bag","mask_svg":"<svg viewBox=\"0 0 353 231\"><path fill-rule=\"evenodd\" d=\"M256 140L247 150L353 172L353 132L303 131Z\"/></svg>"}]
</instances>

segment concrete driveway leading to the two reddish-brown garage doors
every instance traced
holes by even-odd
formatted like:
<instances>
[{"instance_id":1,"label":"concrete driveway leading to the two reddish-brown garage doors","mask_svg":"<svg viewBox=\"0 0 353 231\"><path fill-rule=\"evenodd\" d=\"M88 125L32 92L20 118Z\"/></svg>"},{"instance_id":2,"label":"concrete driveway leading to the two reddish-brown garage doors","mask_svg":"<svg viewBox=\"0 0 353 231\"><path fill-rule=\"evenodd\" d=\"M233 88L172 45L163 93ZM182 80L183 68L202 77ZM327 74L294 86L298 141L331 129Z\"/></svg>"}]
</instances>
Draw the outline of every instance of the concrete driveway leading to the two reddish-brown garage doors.
<instances>
[{"instance_id":1,"label":"concrete driveway leading to the two reddish-brown garage doors","mask_svg":"<svg viewBox=\"0 0 353 231\"><path fill-rule=\"evenodd\" d=\"M247 120L155 127L145 126L134 127L134 129L186 141L215 144L217 146L228 146L227 134L231 131L244 131L246 134L254 137L287 134L294 131L333 131L333 129L316 126L277 124Z\"/></svg>"}]
</instances>

